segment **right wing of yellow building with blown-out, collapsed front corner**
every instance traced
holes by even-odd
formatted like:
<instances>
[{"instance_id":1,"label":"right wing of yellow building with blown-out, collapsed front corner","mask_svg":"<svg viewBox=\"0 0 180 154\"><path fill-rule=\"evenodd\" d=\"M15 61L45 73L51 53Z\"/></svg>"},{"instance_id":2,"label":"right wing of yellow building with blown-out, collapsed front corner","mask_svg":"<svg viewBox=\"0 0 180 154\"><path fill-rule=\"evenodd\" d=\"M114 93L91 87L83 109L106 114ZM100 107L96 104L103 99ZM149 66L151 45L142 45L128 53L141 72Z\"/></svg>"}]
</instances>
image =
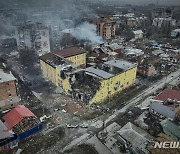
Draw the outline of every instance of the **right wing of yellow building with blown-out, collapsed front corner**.
<instances>
[{"instance_id":1,"label":"right wing of yellow building with blown-out, collapsed front corner","mask_svg":"<svg viewBox=\"0 0 180 154\"><path fill-rule=\"evenodd\" d=\"M70 84L72 96L89 104L101 103L132 86L136 71L136 64L124 60L110 60L76 71Z\"/></svg>"}]
</instances>

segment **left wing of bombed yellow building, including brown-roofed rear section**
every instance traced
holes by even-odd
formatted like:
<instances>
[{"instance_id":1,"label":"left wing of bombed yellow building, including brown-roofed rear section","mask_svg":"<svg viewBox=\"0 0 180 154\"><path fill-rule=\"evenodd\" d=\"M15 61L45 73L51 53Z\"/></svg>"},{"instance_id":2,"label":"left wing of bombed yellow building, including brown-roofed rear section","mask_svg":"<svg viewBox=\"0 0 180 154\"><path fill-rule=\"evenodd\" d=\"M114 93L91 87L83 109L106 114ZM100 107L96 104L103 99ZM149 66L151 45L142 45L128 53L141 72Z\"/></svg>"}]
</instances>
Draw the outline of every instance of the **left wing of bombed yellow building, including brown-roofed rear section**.
<instances>
[{"instance_id":1,"label":"left wing of bombed yellow building, including brown-roofed rear section","mask_svg":"<svg viewBox=\"0 0 180 154\"><path fill-rule=\"evenodd\" d=\"M80 65L86 65L86 52L74 47L47 53L40 57L40 65L44 77L56 86L62 86L68 93L70 86L64 72L72 71Z\"/></svg>"}]
</instances>

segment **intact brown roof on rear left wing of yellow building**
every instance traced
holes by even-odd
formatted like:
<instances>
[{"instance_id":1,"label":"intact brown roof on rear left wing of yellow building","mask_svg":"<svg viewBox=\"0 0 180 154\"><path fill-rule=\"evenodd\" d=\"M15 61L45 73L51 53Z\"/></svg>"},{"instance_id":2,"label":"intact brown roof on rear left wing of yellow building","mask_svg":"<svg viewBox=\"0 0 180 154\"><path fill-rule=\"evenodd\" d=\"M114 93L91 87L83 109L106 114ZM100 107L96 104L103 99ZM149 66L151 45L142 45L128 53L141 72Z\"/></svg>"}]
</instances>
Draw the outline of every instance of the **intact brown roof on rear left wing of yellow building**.
<instances>
[{"instance_id":1,"label":"intact brown roof on rear left wing of yellow building","mask_svg":"<svg viewBox=\"0 0 180 154\"><path fill-rule=\"evenodd\" d=\"M71 56L83 54L83 53L85 53L85 51L83 51L82 49L77 48L77 47L71 47L71 48L66 48L66 49L63 49L63 50L55 51L53 53L55 55L58 55L58 56L61 56L61 57L64 57L64 58L68 58L68 57L71 57Z\"/></svg>"}]
</instances>

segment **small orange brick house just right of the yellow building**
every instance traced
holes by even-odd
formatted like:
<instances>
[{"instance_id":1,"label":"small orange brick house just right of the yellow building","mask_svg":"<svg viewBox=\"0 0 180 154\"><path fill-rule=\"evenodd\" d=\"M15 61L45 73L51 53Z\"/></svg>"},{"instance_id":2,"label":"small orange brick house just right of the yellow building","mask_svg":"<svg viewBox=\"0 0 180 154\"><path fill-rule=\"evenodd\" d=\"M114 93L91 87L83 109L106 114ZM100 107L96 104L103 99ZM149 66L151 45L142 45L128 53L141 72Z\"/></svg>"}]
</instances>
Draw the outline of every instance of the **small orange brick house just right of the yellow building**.
<instances>
[{"instance_id":1,"label":"small orange brick house just right of the yellow building","mask_svg":"<svg viewBox=\"0 0 180 154\"><path fill-rule=\"evenodd\" d=\"M153 65L138 66L138 73L143 76L151 76L155 72L155 67Z\"/></svg>"}]
</instances>

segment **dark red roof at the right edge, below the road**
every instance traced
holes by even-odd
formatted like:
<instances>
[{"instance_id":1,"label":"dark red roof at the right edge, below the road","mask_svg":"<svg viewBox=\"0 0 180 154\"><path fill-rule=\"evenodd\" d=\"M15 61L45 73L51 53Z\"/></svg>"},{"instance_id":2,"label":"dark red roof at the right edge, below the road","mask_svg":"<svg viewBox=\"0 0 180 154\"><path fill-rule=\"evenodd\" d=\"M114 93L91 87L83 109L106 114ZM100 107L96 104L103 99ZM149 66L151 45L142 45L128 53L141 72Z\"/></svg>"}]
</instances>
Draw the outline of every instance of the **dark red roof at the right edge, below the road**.
<instances>
[{"instance_id":1,"label":"dark red roof at the right edge, below the road","mask_svg":"<svg viewBox=\"0 0 180 154\"><path fill-rule=\"evenodd\" d=\"M167 89L163 90L154 99L155 100L161 100L161 101L165 101L168 99L180 101L180 91L167 88Z\"/></svg>"}]
</instances>

